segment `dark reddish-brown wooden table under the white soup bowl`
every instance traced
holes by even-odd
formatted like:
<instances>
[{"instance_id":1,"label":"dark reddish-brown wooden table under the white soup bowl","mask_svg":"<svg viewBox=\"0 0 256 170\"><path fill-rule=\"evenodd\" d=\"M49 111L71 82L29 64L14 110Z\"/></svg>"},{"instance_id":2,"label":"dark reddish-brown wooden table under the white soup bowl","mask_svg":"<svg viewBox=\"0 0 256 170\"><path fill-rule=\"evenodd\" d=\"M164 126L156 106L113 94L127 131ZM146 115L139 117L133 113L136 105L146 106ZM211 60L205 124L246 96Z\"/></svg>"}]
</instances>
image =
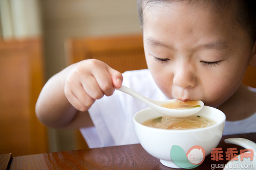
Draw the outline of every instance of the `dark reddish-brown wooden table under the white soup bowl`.
<instances>
[{"instance_id":1,"label":"dark reddish-brown wooden table under the white soup bowl","mask_svg":"<svg viewBox=\"0 0 256 170\"><path fill-rule=\"evenodd\" d=\"M223 136L218 148L243 149L226 144L224 139L242 137L256 141L256 133ZM225 157L225 156L224 156ZM214 161L208 155L203 164L195 169L211 169L211 164L223 164L227 160ZM140 144L121 145L76 151L64 151L13 157L10 169L172 169L163 166L159 159L148 154ZM217 168L215 168L217 169Z\"/></svg>"}]
</instances>

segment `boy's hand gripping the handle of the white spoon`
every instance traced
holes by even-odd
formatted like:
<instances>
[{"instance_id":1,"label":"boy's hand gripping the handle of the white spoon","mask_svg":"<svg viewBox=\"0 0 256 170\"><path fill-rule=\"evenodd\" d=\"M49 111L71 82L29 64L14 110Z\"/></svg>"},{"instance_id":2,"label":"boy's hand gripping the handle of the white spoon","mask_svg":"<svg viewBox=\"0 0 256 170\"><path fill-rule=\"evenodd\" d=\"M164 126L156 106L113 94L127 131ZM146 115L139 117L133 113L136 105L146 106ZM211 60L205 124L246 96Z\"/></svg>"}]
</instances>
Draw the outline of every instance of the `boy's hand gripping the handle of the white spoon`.
<instances>
[{"instance_id":1,"label":"boy's hand gripping the handle of the white spoon","mask_svg":"<svg viewBox=\"0 0 256 170\"><path fill-rule=\"evenodd\" d=\"M64 92L79 111L87 111L95 100L112 95L122 85L122 75L102 61L88 59L73 64L67 76Z\"/></svg>"}]
</instances>

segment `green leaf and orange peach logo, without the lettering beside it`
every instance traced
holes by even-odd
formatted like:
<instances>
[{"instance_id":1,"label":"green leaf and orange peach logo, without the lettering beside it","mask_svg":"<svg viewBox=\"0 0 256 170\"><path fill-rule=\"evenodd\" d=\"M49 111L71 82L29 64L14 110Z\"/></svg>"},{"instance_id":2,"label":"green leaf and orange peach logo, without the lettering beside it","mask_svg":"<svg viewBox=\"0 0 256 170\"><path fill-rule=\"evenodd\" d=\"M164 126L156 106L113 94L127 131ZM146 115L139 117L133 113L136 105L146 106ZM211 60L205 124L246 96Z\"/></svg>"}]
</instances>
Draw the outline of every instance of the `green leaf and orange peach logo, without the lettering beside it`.
<instances>
[{"instance_id":1,"label":"green leaf and orange peach logo, without the lettering beside it","mask_svg":"<svg viewBox=\"0 0 256 170\"><path fill-rule=\"evenodd\" d=\"M195 145L185 153L181 147L173 145L172 149L170 149L170 157L177 166L191 169L203 163L205 150L200 145Z\"/></svg>"}]
</instances>

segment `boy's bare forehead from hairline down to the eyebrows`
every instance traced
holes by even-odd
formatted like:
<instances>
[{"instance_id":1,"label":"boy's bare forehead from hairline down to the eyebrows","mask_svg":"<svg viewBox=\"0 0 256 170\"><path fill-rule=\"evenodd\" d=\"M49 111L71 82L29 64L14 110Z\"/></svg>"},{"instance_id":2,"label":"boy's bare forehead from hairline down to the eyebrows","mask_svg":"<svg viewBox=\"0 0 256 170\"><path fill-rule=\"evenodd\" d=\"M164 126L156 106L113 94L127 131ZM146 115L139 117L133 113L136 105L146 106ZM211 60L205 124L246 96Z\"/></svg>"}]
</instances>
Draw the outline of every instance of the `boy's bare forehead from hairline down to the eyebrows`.
<instances>
[{"instance_id":1,"label":"boy's bare forehead from hairline down to the eyebrows","mask_svg":"<svg viewBox=\"0 0 256 170\"><path fill-rule=\"evenodd\" d=\"M144 21L144 40L160 40L174 47L248 38L246 31L232 21L230 12L216 12L210 4L155 3L145 8Z\"/></svg>"}]
</instances>

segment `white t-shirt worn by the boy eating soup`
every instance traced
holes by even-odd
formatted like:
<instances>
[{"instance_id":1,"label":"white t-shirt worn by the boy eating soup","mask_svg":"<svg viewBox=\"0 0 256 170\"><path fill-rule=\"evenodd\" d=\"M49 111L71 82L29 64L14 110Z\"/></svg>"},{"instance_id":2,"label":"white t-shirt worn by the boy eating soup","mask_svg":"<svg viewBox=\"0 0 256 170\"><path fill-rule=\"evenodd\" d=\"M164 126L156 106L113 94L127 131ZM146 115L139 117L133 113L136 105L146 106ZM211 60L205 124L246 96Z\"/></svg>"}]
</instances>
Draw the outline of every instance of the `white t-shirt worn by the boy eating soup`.
<instances>
[{"instance_id":1,"label":"white t-shirt worn by the boy eating soup","mask_svg":"<svg viewBox=\"0 0 256 170\"><path fill-rule=\"evenodd\" d=\"M122 85L130 87L149 99L168 100L157 87L148 69L124 72ZM133 115L147 107L129 94L115 90L113 95L104 96L95 101L89 109L95 127L81 128L80 132L90 148L139 143L133 126ZM256 114L253 119L255 118ZM245 129L239 132L251 132L251 128L255 132L256 124L252 127L245 126L246 122L242 124ZM226 134L230 134L233 125L237 126L232 122L225 126Z\"/></svg>"}]
</instances>

